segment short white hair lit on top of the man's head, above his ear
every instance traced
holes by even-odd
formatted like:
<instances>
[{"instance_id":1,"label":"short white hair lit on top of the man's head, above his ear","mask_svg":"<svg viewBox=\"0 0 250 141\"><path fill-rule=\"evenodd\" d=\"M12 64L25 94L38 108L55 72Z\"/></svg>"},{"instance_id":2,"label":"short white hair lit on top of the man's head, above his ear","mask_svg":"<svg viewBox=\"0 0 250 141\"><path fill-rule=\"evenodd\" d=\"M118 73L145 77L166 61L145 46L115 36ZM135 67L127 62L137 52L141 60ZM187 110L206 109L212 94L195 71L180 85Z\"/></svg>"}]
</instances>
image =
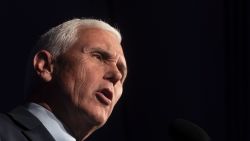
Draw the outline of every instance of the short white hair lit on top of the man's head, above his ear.
<instances>
[{"instance_id":1,"label":"short white hair lit on top of the man's head, above his ear","mask_svg":"<svg viewBox=\"0 0 250 141\"><path fill-rule=\"evenodd\" d=\"M110 31L117 36L119 42L122 40L119 30L102 20L73 19L53 27L43 34L40 37L35 50L48 50L55 59L77 41L79 29L88 28L98 28Z\"/></svg>"}]
</instances>

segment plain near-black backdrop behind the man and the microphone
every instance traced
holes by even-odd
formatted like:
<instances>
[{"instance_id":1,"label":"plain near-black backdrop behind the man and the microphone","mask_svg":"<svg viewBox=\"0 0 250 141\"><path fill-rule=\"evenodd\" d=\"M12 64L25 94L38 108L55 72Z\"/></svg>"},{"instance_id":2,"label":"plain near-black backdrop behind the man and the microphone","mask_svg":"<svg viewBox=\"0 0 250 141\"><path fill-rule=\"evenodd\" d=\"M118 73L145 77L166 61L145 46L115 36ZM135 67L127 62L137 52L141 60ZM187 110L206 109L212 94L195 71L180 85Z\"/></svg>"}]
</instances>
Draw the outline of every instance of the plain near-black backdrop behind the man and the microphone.
<instances>
[{"instance_id":1,"label":"plain near-black backdrop behind the man and the microphone","mask_svg":"<svg viewBox=\"0 0 250 141\"><path fill-rule=\"evenodd\" d=\"M74 17L118 26L128 63L124 95L88 141L170 141L176 118L213 141L250 140L247 0L5 0L0 2L0 110L23 100L39 35Z\"/></svg>"}]
</instances>

